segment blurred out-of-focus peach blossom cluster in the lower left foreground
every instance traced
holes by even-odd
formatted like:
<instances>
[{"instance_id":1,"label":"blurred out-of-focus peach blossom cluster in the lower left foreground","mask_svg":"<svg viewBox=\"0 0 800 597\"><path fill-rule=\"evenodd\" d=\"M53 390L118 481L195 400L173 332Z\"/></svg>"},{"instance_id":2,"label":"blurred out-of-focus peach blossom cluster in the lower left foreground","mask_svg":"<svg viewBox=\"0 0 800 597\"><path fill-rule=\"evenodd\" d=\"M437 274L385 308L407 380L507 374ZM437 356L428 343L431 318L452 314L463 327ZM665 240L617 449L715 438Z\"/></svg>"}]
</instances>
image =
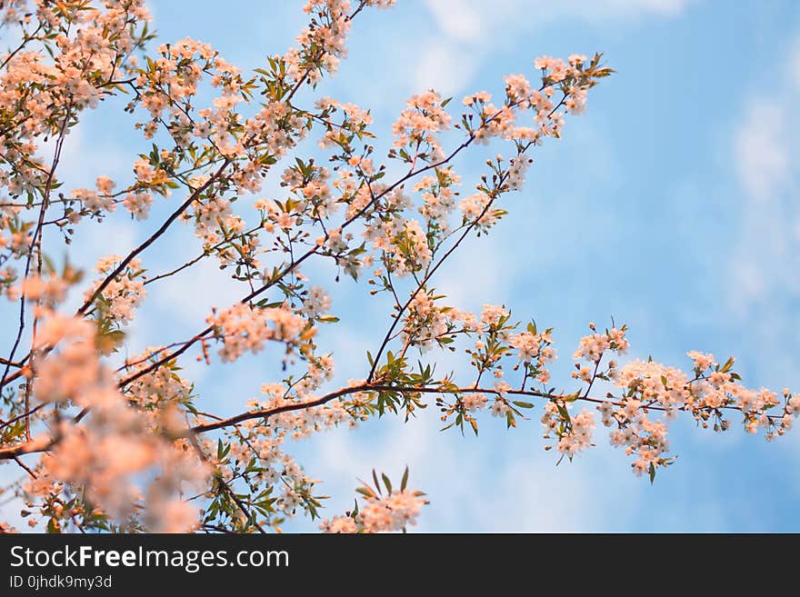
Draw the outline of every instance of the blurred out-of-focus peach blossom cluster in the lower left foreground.
<instances>
[{"instance_id":1,"label":"blurred out-of-focus peach blossom cluster in the lower left foreground","mask_svg":"<svg viewBox=\"0 0 800 597\"><path fill-rule=\"evenodd\" d=\"M185 532L195 526L197 511L184 502L185 487L205 484L207 471L183 440L175 443L152 433L147 420L130 408L99 362L95 326L86 320L45 313L39 347L59 349L39 357L35 396L43 402L71 400L90 413L87 422L62 421L58 442L25 485L29 503L42 500L40 511L51 529L60 520L86 520L92 508L116 519L141 513L151 531ZM36 438L34 442L46 441ZM145 487L142 487L142 480ZM148 497L141 505L142 492ZM75 496L82 495L82 504ZM75 504L63 508L65 502ZM31 519L35 522L34 519Z\"/></svg>"}]
</instances>

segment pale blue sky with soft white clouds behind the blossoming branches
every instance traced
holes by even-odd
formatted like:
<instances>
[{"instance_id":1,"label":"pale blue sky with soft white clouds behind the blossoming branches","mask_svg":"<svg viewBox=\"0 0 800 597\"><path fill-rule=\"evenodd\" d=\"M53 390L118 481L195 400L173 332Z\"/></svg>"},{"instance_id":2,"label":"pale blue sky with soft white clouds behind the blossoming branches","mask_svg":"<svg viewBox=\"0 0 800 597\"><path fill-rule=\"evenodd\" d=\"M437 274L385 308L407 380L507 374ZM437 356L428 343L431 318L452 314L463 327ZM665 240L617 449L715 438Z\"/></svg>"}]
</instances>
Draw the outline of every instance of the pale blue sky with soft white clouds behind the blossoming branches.
<instances>
[{"instance_id":1,"label":"pale blue sky with soft white clouds behind the blossoming branches","mask_svg":"<svg viewBox=\"0 0 800 597\"><path fill-rule=\"evenodd\" d=\"M150 3L162 41L190 35L243 70L292 44L304 23L301 4ZM461 307L505 303L518 318L555 327L556 382L568 379L585 324L613 315L631 328L631 358L652 354L688 367L687 350L735 354L748 385L800 388L800 5L399 0L359 17L349 47L319 95L372 108L379 147L389 144L408 95L431 86L459 98L497 93L507 73L533 77L538 55L605 52L617 74L590 95L587 114L567 119L563 140L537 151L525 190L505 200L511 216L465 244L435 279L437 289ZM130 172L132 148L145 145L111 125L119 108L103 106L71 135L69 184ZM485 156L456 163L465 190ZM278 189L268 182L264 194ZM100 254L123 253L158 214L138 229L124 214L87 224L75 261L91 266ZM181 230L145 254L145 265L165 269L195 246L191 231ZM343 320L323 337L335 351L337 381L364 377L365 351L389 321L387 304L367 300L364 285L315 272L329 276ZM154 289L132 330L133 349L195 333L211 304L243 294L224 281L209 264ZM187 372L219 410L234 413L272 381L271 366L262 356L224 370L187 362ZM537 411L511 432L485 417L477 439L439 433L434 414L320 434L290 451L325 481L328 515L352 504L356 477L373 467L399 476L409 464L412 484L431 500L416 527L426 532L800 531L796 433L767 444L735 425L715 434L673 423L679 457L651 486L635 478L603 430L596 448L555 467L542 449Z\"/></svg>"}]
</instances>

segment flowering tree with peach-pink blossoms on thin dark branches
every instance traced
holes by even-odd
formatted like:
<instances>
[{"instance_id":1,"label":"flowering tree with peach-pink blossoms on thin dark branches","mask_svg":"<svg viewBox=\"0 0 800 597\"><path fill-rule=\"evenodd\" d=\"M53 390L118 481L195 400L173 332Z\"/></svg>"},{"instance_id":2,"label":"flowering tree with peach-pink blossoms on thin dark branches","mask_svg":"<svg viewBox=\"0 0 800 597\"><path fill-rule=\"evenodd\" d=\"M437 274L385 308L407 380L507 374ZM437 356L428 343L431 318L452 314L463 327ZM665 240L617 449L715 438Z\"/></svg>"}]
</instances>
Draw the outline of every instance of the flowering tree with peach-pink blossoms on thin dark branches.
<instances>
[{"instance_id":1,"label":"flowering tree with peach-pink blossoms on thin dark branches","mask_svg":"<svg viewBox=\"0 0 800 597\"><path fill-rule=\"evenodd\" d=\"M435 274L450 255L505 216L503 195L522 188L531 154L561 135L565 115L582 112L587 92L612 71L601 55L542 57L535 83L507 75L494 103L478 92L455 110L425 91L407 101L394 139L380 142L364 108L304 98L335 73L357 16L393 4L311 0L297 46L243 75L193 39L156 46L143 0L0 2L4 40L13 40L0 55L0 293L9 343L0 356L0 462L20 468L6 491L24 499L31 526L266 532L296 513L316 518L315 482L286 443L373 417L408 419L430 405L445 429L475 433L485 411L515 427L539 407L545 449L568 459L592 445L599 411L634 473L651 481L674 458L667 422L680 413L715 431L735 415L767 439L790 428L800 398L745 388L733 359L690 352L687 373L652 360L619 364L625 325L590 323L573 380L554 385L551 329L519 323L503 306L470 313L436 293ZM132 156L127 180L62 188L65 138L101 101L121 101L152 149ZM445 146L447 129L459 144ZM308 154L306 138L329 166ZM473 173L474 192L459 199L455 157L490 143L505 153L487 159L485 172ZM391 180L386 164L404 174ZM280 176L282 196L261 196L266 176ZM154 202L167 201L168 217L148 219ZM152 232L133 251L103 257L90 281L48 256L81 224L116 210ZM173 270L145 269L148 253L180 224L194 228L199 250ZM189 338L123 358L148 286L203 260L231 273L241 300L209 313ZM316 340L319 326L339 321L327 281L307 274L316 261L394 304L362 379L336 380L333 357ZM75 289L79 306L68 308ZM464 353L463 366L436 375L442 350ZM237 413L207 412L180 367L191 357L224 367L262 351L280 373ZM407 470L395 485L373 473L357 490L361 503L321 528L405 529L425 504L407 482Z\"/></svg>"}]
</instances>

